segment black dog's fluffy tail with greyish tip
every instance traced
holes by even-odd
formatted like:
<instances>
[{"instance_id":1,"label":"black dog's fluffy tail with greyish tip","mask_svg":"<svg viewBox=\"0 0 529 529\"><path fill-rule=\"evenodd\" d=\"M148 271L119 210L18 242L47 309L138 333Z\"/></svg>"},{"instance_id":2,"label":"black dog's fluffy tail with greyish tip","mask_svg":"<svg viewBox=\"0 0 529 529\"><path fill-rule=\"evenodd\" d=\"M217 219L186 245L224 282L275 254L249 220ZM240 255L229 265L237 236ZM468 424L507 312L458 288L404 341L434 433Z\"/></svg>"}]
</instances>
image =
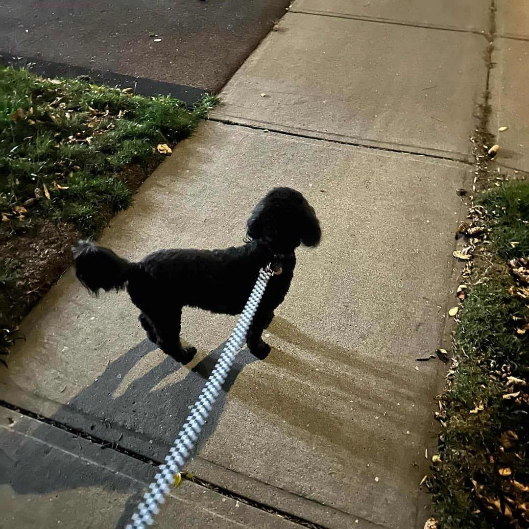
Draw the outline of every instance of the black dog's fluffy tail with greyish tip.
<instances>
[{"instance_id":1,"label":"black dog's fluffy tail with greyish tip","mask_svg":"<svg viewBox=\"0 0 529 529\"><path fill-rule=\"evenodd\" d=\"M77 279L96 295L101 288L106 291L125 288L135 267L135 263L90 241L79 241L72 250Z\"/></svg>"}]
</instances>

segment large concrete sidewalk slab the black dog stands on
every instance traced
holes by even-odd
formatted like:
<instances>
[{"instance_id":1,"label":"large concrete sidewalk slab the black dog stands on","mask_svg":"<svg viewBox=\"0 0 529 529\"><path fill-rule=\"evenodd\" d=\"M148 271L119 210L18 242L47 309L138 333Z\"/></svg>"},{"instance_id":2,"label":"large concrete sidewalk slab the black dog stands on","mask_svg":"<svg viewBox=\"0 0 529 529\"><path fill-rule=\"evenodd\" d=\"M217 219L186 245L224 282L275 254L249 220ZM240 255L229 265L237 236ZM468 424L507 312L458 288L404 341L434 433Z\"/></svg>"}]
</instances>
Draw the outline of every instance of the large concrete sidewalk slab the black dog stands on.
<instances>
[{"instance_id":1,"label":"large concrete sidewalk slab the black dog stands on","mask_svg":"<svg viewBox=\"0 0 529 529\"><path fill-rule=\"evenodd\" d=\"M275 185L300 189L324 231L319 248L298 252L272 353L239 354L191 471L211 462L266 484L271 501L281 491L310 500L298 504L303 517L326 527L421 521L440 365L415 358L442 340L455 189L467 174L456 162L212 122L178 145L103 244L132 259L237 244ZM198 353L182 367L145 341L136 314L125 294L93 298L63 276L24 321L3 395L163 458L235 320L187 310L183 337Z\"/></svg>"}]
</instances>

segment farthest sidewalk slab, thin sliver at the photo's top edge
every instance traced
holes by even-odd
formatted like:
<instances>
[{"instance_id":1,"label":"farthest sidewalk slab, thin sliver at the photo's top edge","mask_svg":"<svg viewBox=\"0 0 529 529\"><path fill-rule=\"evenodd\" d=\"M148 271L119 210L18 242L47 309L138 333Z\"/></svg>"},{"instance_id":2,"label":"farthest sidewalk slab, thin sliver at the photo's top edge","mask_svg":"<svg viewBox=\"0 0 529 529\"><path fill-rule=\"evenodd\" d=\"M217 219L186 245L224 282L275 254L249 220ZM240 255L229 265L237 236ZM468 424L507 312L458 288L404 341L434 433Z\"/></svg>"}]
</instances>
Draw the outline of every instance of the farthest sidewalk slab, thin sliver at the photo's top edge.
<instances>
[{"instance_id":1,"label":"farthest sidewalk slab, thin sliver at the photo's top edge","mask_svg":"<svg viewBox=\"0 0 529 529\"><path fill-rule=\"evenodd\" d=\"M432 26L457 30L486 32L489 29L490 10L481 0L296 0L290 12L325 14L394 22L409 25Z\"/></svg>"}]
</instances>

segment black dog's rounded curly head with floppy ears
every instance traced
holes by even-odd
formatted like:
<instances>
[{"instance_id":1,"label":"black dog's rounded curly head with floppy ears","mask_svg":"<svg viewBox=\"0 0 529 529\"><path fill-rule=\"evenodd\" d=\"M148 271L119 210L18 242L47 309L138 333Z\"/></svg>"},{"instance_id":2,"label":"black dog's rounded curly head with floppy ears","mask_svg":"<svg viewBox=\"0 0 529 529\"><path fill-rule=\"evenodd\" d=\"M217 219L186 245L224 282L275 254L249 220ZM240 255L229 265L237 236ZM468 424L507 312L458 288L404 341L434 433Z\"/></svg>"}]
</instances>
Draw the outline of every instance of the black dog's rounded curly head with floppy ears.
<instances>
[{"instance_id":1,"label":"black dog's rounded curly head with floppy ears","mask_svg":"<svg viewBox=\"0 0 529 529\"><path fill-rule=\"evenodd\" d=\"M289 187L269 191L248 219L247 236L267 243L275 253L288 254L300 244L317 246L322 231L314 208Z\"/></svg>"}]
</instances>

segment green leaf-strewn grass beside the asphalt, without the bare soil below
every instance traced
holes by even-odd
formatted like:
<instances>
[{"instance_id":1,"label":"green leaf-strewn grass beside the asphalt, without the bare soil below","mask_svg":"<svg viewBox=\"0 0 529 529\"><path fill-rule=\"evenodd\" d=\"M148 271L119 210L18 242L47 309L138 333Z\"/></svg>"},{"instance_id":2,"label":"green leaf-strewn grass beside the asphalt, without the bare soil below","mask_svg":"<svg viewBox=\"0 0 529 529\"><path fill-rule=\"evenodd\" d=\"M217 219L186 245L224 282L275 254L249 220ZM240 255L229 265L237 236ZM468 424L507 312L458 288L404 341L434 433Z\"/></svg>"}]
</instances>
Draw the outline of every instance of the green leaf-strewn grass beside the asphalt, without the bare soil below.
<instances>
[{"instance_id":1,"label":"green leaf-strewn grass beside the asphalt, without the bare soil below","mask_svg":"<svg viewBox=\"0 0 529 529\"><path fill-rule=\"evenodd\" d=\"M189 110L170 97L0 68L0 212L15 228L40 215L97 234L130 204L123 168L161 158L157 145L189 136L217 102L208 95Z\"/></svg>"}]
</instances>

